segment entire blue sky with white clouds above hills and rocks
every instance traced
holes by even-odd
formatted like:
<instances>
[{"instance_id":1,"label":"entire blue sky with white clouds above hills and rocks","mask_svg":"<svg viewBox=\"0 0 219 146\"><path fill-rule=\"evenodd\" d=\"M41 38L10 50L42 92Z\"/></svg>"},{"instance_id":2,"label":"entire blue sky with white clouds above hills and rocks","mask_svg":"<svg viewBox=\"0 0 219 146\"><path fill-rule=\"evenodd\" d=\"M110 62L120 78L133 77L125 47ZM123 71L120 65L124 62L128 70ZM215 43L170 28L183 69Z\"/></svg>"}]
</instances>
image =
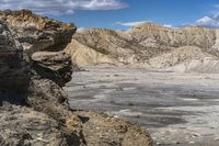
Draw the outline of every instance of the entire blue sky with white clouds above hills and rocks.
<instances>
[{"instance_id":1,"label":"entire blue sky with white clouds above hills and rocks","mask_svg":"<svg viewBox=\"0 0 219 146\"><path fill-rule=\"evenodd\" d=\"M127 30L145 22L168 27L219 27L219 0L0 0L0 9L31 9L79 30Z\"/></svg>"}]
</instances>

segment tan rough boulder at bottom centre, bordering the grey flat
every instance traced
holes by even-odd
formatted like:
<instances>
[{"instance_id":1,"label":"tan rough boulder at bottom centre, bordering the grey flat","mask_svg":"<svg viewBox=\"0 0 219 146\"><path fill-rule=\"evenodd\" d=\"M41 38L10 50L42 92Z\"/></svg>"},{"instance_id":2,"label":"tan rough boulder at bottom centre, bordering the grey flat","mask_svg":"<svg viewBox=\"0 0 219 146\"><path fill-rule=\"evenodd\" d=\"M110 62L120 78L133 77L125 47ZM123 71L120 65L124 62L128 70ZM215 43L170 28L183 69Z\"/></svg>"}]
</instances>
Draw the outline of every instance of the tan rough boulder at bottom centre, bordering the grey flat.
<instances>
[{"instance_id":1,"label":"tan rough boulder at bottom centre, bordering the grey flat","mask_svg":"<svg viewBox=\"0 0 219 146\"><path fill-rule=\"evenodd\" d=\"M83 122L82 132L88 146L152 146L152 141L145 130L92 111L74 112Z\"/></svg>"}]
</instances>

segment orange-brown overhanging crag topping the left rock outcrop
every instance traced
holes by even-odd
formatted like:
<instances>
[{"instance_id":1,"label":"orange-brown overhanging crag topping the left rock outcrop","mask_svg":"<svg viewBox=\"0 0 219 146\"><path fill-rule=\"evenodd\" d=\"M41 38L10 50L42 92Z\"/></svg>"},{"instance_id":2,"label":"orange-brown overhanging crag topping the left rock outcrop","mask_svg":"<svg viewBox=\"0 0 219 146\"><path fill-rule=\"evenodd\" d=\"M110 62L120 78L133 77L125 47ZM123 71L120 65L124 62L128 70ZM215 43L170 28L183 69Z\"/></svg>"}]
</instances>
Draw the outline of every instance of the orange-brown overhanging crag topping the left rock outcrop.
<instances>
[{"instance_id":1,"label":"orange-brown overhanging crag topping the left rock outcrop","mask_svg":"<svg viewBox=\"0 0 219 146\"><path fill-rule=\"evenodd\" d=\"M43 18L28 10L0 11L0 20L10 25L14 38L30 55L38 50L64 49L77 30L73 24Z\"/></svg>"}]
</instances>

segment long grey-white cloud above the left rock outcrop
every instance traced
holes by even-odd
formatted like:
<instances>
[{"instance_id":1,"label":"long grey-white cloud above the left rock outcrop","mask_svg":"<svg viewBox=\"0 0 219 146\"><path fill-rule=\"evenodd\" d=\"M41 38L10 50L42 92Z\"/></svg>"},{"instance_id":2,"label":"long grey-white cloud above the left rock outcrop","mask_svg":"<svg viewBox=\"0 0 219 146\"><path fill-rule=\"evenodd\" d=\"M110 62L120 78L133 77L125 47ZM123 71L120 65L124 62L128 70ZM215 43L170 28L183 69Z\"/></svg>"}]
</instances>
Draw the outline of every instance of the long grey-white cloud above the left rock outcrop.
<instances>
[{"instance_id":1,"label":"long grey-white cloud above the left rock outcrop","mask_svg":"<svg viewBox=\"0 0 219 146\"><path fill-rule=\"evenodd\" d=\"M31 9L39 14L72 14L76 10L117 10L127 8L122 0L0 0L0 10Z\"/></svg>"}]
</instances>

